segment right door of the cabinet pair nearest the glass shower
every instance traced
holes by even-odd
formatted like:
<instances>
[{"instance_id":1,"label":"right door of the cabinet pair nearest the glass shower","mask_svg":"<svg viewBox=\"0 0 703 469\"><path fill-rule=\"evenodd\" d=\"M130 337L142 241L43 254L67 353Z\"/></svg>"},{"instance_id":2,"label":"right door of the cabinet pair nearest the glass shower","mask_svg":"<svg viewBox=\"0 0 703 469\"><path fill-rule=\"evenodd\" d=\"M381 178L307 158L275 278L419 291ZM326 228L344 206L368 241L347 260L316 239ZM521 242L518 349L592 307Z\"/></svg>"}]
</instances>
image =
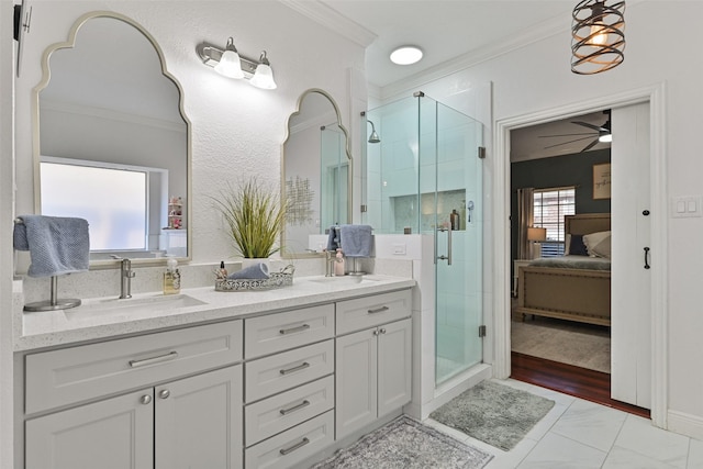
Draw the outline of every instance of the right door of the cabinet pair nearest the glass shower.
<instances>
[{"instance_id":1,"label":"right door of the cabinet pair nearest the glass shower","mask_svg":"<svg viewBox=\"0 0 703 469\"><path fill-rule=\"evenodd\" d=\"M379 327L378 335L378 416L400 409L412 398L411 320Z\"/></svg>"}]
</instances>

